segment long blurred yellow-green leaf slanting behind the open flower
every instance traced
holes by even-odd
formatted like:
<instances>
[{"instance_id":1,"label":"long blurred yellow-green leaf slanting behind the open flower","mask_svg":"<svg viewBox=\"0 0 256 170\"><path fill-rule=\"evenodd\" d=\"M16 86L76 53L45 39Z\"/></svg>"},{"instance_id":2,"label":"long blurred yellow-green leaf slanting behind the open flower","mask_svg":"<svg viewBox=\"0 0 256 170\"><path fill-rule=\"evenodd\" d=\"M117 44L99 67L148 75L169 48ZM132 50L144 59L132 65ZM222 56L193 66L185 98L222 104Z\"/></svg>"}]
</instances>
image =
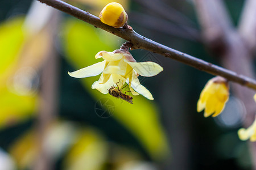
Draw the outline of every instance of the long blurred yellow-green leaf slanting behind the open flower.
<instances>
[{"instance_id":1,"label":"long blurred yellow-green leaf slanting behind the open flower","mask_svg":"<svg viewBox=\"0 0 256 170\"><path fill-rule=\"evenodd\" d=\"M68 61L75 67L75 70L102 61L102 59L95 59L94 56L100 50L113 51L119 48L115 46L116 42L119 41L119 45L122 42L113 35L108 41L106 39L102 40L105 36L102 35L101 30L79 20L69 19L65 22L63 28L65 28L63 35L64 49L67 52ZM105 32L105 34L109 33ZM166 135L159 122L158 110L154 101L147 100L143 96L135 96L134 105L132 105L120 99L115 99L108 94L103 95L91 88L93 82L98 78L99 76L81 80L96 101L107 98L114 102L113 116L141 141L142 146L152 158L160 159L162 156L166 156L170 150Z\"/></svg>"}]
</instances>

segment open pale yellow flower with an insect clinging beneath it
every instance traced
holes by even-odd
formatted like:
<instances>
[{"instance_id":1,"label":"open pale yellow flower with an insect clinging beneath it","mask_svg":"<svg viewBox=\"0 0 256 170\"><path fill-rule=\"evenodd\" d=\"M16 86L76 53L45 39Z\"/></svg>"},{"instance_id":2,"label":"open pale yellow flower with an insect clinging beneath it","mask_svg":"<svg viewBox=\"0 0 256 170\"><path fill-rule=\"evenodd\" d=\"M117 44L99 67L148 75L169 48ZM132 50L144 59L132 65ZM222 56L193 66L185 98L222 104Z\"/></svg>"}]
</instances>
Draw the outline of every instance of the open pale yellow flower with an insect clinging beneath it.
<instances>
[{"instance_id":1,"label":"open pale yellow flower with an insect clinging beneath it","mask_svg":"<svg viewBox=\"0 0 256 170\"><path fill-rule=\"evenodd\" d=\"M163 71L163 67L151 61L136 62L129 52L122 49L114 50L114 52L101 51L96 54L95 58L103 58L104 61L72 73L68 72L68 74L75 78L86 78L102 73L100 79L92 84L92 88L102 94L108 94L110 87L116 87L115 83L121 88L126 82L129 83L133 95L141 94L147 99L154 99L150 91L139 83L137 76L138 74L142 76L157 75Z\"/></svg>"}]
</instances>

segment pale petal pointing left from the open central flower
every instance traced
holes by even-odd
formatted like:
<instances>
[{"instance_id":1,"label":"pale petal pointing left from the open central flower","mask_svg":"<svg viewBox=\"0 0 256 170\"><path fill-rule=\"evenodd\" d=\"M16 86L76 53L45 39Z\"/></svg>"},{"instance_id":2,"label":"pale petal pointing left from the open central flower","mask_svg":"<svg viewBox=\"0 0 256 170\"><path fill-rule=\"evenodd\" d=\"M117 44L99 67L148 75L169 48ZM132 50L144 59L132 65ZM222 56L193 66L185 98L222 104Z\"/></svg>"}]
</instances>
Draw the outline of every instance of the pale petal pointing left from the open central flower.
<instances>
[{"instance_id":1,"label":"pale petal pointing left from the open central flower","mask_svg":"<svg viewBox=\"0 0 256 170\"><path fill-rule=\"evenodd\" d=\"M94 65L85 67L83 69L73 71L73 72L68 72L70 76L73 76L75 78L86 78L89 76L96 76L102 73L104 70L106 61L98 62L95 63Z\"/></svg>"}]
</instances>

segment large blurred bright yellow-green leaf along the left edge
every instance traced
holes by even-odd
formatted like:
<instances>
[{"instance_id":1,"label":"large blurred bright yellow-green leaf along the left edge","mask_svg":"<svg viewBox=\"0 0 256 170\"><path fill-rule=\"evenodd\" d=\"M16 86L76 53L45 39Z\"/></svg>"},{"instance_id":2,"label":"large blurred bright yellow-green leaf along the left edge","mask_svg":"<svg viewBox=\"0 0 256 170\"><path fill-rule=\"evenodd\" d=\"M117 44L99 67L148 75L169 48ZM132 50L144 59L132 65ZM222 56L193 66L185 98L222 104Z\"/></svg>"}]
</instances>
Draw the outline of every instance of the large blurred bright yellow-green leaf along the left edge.
<instances>
[{"instance_id":1,"label":"large blurred bright yellow-green leaf along the left edge","mask_svg":"<svg viewBox=\"0 0 256 170\"><path fill-rule=\"evenodd\" d=\"M36 94L15 94L9 87L10 78L19 69L19 53L24 42L23 20L19 16L0 25L0 128L26 120L35 113L37 106Z\"/></svg>"}]
</instances>

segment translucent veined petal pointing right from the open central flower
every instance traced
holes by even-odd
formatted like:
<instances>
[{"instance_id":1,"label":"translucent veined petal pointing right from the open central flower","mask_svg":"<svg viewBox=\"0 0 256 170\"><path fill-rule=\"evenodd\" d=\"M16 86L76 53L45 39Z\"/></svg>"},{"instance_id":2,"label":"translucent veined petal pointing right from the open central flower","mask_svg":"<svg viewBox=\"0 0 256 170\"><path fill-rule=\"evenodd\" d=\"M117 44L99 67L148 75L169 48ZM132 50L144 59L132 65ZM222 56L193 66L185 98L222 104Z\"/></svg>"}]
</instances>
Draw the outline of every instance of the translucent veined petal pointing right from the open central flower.
<instances>
[{"instance_id":1,"label":"translucent veined petal pointing right from the open central flower","mask_svg":"<svg viewBox=\"0 0 256 170\"><path fill-rule=\"evenodd\" d=\"M163 67L161 67L158 63L147 61L147 62L127 62L139 75L142 76L154 76L163 71Z\"/></svg>"}]
</instances>

